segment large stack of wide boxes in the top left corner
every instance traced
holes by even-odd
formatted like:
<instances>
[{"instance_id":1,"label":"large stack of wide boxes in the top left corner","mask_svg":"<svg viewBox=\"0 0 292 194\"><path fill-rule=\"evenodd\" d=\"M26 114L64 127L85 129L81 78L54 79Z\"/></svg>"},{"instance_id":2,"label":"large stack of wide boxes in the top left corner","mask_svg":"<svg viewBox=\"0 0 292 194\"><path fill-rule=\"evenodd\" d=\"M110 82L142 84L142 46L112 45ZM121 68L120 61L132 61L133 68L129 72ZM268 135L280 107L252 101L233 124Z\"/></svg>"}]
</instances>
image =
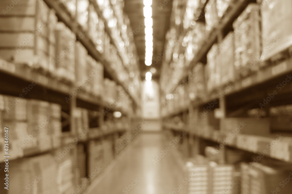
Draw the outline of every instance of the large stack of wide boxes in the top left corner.
<instances>
[{"instance_id":1,"label":"large stack of wide boxes in the top left corner","mask_svg":"<svg viewBox=\"0 0 292 194\"><path fill-rule=\"evenodd\" d=\"M9 7L11 1L4 3L3 7ZM21 1L10 11L1 11L0 55L7 61L48 71L49 12L42 0Z\"/></svg>"}]
</instances>

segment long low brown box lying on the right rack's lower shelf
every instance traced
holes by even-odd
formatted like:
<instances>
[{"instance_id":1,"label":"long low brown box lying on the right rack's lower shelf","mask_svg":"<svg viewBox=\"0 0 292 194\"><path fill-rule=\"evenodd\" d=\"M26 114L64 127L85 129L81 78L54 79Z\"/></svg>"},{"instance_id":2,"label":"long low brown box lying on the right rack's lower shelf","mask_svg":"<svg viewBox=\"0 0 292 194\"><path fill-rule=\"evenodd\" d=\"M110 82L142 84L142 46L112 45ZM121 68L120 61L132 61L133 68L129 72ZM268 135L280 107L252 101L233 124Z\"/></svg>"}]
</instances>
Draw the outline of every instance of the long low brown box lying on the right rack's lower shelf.
<instances>
[{"instance_id":1,"label":"long low brown box lying on the right rack's lower shelf","mask_svg":"<svg viewBox=\"0 0 292 194\"><path fill-rule=\"evenodd\" d=\"M220 119L220 131L263 136L270 133L270 123L264 118L223 118Z\"/></svg>"}]
</instances>

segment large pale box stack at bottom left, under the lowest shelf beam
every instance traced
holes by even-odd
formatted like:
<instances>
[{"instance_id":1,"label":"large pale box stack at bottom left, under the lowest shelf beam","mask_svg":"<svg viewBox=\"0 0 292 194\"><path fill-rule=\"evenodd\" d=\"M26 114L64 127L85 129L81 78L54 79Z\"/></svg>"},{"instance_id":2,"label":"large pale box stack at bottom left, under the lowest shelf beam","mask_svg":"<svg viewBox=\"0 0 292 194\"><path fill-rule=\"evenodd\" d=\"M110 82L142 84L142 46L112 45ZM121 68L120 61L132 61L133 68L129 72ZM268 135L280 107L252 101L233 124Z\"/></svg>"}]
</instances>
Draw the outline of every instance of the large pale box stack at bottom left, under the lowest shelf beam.
<instances>
[{"instance_id":1,"label":"large pale box stack at bottom left, under the lowest shelf beam","mask_svg":"<svg viewBox=\"0 0 292 194\"><path fill-rule=\"evenodd\" d=\"M13 162L9 168L8 194L14 193L60 193L56 186L58 165L51 155L27 158Z\"/></svg>"}]
</instances>

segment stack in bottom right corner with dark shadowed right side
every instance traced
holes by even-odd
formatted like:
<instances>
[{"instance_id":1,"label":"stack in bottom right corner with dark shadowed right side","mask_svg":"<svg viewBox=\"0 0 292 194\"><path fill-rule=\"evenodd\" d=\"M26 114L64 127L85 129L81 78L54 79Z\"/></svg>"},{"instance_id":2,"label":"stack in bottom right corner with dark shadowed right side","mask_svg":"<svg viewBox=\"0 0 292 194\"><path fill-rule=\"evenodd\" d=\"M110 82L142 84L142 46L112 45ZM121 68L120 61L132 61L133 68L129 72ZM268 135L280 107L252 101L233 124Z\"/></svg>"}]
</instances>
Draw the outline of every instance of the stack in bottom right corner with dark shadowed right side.
<instances>
[{"instance_id":1,"label":"stack in bottom right corner with dark shadowed right side","mask_svg":"<svg viewBox=\"0 0 292 194\"><path fill-rule=\"evenodd\" d=\"M241 194L291 193L292 185L287 184L291 169L251 164L241 164Z\"/></svg>"}]
</instances>

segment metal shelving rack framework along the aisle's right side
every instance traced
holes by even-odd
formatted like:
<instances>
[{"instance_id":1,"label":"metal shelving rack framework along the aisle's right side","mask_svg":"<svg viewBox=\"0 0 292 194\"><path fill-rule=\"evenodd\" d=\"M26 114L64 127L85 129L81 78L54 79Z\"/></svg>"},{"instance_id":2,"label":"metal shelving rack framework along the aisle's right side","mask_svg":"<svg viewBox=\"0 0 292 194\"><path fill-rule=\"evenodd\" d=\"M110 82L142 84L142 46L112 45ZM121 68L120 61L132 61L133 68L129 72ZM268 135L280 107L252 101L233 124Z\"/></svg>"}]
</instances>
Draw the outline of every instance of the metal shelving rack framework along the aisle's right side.
<instances>
[{"instance_id":1,"label":"metal shelving rack framework along the aisle's right side","mask_svg":"<svg viewBox=\"0 0 292 194\"><path fill-rule=\"evenodd\" d=\"M208 1L206 1L206 4ZM214 112L208 112L206 114L215 114L215 118L218 120L224 120L228 117L240 117L243 115L243 112L252 109L258 108L259 103L263 103L263 99L268 97L268 94L273 93L276 89L276 85L286 80L288 76L291 76L292 73L292 59L291 54L286 58L281 60L266 60L266 63L263 68L257 72L252 73L244 78L235 80L228 84L231 85L231 88L226 89L226 84L215 88L210 93L207 93L205 98L196 98L190 103L184 106L176 106L171 110L166 108L174 98L169 98L169 95L176 96L178 95L178 90L182 90L183 87L187 84L180 86L181 81L186 80L190 73L193 72L193 68L197 63L206 63L207 53L211 49L214 43L220 43L223 41L224 37L228 32L232 31L232 23L234 20L244 11L249 3L256 3L256 1L249 0L239 0L234 1L228 8L222 18L219 19L217 25L213 27L209 34L206 35L204 40L198 45L197 53L194 53L194 58L189 62L185 63L185 70L182 75L177 78L178 82L171 83L172 86L164 88L162 95L164 96L161 101L167 102L164 105L165 111L162 111L162 117L164 120L163 127L166 132L171 131L173 136L178 135L178 132L184 131L189 136L187 136L185 141L188 142L187 149L189 149L189 155L187 157L193 157L196 154L204 155L204 148L206 146L219 146L223 145L223 142L226 139L231 139L226 141L222 150L225 153L227 149L238 149L244 151L251 156L255 156L258 153L262 153L263 150L267 151L263 161L274 161L274 163L283 162L284 164L292 163L292 135L286 131L278 131L277 134L284 136L285 141L277 142L275 146L275 139L277 134L270 133L265 135L251 135L251 134L236 134L234 138L230 138L228 132L222 130L224 125L218 123L218 129L213 129L211 127L204 127L204 129L198 129L202 126L198 126L197 122L200 119L200 113L202 113L203 108L207 108L211 103L213 106L210 106L210 110L215 109ZM204 8L206 6L200 5L195 13L194 21L203 20L204 21ZM200 17L202 16L203 17ZM181 29L183 24L176 26L176 29ZM187 34L182 32L183 36ZM176 36L181 35L176 34ZM290 48L289 48L290 49ZM288 49L287 49L288 50ZM284 51L288 52L288 51ZM172 56L173 53L171 53ZM170 63L166 61L164 63ZM272 101L272 105L286 105L291 104L291 83L288 83L281 91L277 92ZM177 92L175 92L177 91ZM218 95L222 94L223 95ZM178 99L177 103L180 99ZM208 104L209 103L209 104ZM265 106L263 109L268 110L270 105ZM208 111L209 111L208 109ZM205 117L206 114L204 114ZM183 115L189 115L188 119L182 119ZM180 117L180 124L175 123L175 118ZM181 123L183 122L183 123ZM235 129L235 128L234 128ZM270 145L271 149L267 149ZM252 162L252 161L249 161Z\"/></svg>"}]
</instances>

